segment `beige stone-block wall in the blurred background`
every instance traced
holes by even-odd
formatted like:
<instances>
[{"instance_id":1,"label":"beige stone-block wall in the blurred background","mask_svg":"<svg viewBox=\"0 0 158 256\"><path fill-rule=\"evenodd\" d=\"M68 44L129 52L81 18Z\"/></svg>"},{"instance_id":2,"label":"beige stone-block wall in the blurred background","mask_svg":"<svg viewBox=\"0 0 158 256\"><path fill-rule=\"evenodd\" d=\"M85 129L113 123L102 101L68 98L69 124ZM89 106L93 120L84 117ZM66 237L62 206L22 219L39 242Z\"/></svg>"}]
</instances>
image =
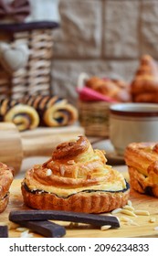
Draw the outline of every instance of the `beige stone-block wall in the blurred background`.
<instances>
[{"instance_id":1,"label":"beige stone-block wall in the blurred background","mask_svg":"<svg viewBox=\"0 0 158 256\"><path fill-rule=\"evenodd\" d=\"M131 81L142 54L158 59L157 0L60 0L52 88L76 104L80 72Z\"/></svg>"}]
</instances>

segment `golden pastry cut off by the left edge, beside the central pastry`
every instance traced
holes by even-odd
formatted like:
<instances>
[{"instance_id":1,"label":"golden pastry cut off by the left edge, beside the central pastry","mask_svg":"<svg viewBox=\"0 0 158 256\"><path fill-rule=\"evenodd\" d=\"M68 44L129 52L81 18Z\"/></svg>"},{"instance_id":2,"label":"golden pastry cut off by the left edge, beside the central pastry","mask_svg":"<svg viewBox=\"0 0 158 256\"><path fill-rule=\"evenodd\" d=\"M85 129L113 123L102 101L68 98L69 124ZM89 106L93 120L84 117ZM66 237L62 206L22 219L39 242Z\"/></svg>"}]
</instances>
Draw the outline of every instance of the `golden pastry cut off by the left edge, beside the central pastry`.
<instances>
[{"instance_id":1,"label":"golden pastry cut off by the left edge, beside the central pastry","mask_svg":"<svg viewBox=\"0 0 158 256\"><path fill-rule=\"evenodd\" d=\"M13 181L13 170L0 162L0 213L5 210L9 201L9 188Z\"/></svg>"}]
</instances>

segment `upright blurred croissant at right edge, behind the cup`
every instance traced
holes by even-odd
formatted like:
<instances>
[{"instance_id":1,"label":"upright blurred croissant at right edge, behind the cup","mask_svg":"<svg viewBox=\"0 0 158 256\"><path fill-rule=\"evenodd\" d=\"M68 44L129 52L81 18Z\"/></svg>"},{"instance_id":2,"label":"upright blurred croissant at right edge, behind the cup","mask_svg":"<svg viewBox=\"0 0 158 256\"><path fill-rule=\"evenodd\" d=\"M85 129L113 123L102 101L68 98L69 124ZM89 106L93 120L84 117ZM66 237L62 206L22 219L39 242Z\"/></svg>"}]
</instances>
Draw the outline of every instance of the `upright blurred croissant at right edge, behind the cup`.
<instances>
[{"instance_id":1,"label":"upright blurred croissant at right edge, behind the cup","mask_svg":"<svg viewBox=\"0 0 158 256\"><path fill-rule=\"evenodd\" d=\"M158 65L151 56L142 56L140 67L135 74L135 78L132 80L131 93L132 101L157 102Z\"/></svg>"}]
</instances>

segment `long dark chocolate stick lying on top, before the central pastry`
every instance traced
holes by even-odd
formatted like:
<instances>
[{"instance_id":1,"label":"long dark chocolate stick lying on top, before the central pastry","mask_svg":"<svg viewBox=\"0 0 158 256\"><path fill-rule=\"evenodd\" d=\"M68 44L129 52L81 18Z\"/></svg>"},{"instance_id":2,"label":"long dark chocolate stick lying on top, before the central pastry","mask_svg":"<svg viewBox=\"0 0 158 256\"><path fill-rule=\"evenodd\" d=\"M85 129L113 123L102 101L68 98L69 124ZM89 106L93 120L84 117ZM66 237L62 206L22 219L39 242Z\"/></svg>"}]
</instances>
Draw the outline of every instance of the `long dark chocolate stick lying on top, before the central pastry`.
<instances>
[{"instance_id":1,"label":"long dark chocolate stick lying on top, before the central pastry","mask_svg":"<svg viewBox=\"0 0 158 256\"><path fill-rule=\"evenodd\" d=\"M11 221L23 220L63 220L78 223L87 223L93 226L111 225L111 228L120 228L119 220L114 216L103 216L89 213L62 211L62 210L17 210L9 214Z\"/></svg>"}]
</instances>

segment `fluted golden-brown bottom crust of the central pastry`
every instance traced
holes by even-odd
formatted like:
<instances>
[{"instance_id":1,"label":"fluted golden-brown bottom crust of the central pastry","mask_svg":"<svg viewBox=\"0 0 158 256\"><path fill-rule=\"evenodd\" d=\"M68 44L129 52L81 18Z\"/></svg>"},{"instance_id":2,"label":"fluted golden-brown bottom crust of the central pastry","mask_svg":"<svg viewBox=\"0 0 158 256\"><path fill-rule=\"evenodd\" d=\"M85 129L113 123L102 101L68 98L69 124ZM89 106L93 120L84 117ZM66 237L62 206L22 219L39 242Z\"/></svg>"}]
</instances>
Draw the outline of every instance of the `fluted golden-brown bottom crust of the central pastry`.
<instances>
[{"instance_id":1,"label":"fluted golden-brown bottom crust of the central pastry","mask_svg":"<svg viewBox=\"0 0 158 256\"><path fill-rule=\"evenodd\" d=\"M70 210L86 213L109 212L114 208L126 205L130 190L124 192L80 192L70 197L57 197L54 194L33 194L22 185L22 194L26 205L30 208Z\"/></svg>"}]
</instances>

